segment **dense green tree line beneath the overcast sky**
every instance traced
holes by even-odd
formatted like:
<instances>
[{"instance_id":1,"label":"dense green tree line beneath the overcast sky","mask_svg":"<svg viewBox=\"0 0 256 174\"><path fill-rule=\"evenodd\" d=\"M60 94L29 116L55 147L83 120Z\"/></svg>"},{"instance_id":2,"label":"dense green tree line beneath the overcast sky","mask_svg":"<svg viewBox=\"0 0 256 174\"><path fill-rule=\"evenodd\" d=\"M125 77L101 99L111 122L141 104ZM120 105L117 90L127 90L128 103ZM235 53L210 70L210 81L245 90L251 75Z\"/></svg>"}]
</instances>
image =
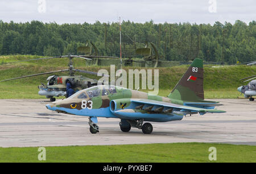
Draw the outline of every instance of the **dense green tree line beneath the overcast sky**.
<instances>
[{"instance_id":1,"label":"dense green tree line beneath the overcast sky","mask_svg":"<svg viewBox=\"0 0 256 174\"><path fill-rule=\"evenodd\" d=\"M235 64L256 60L256 22L234 24L122 22L122 57L152 42L162 60L205 61ZM77 47L93 42L100 55L119 56L119 23L57 24L0 20L0 55L59 56L76 54Z\"/></svg>"}]
</instances>

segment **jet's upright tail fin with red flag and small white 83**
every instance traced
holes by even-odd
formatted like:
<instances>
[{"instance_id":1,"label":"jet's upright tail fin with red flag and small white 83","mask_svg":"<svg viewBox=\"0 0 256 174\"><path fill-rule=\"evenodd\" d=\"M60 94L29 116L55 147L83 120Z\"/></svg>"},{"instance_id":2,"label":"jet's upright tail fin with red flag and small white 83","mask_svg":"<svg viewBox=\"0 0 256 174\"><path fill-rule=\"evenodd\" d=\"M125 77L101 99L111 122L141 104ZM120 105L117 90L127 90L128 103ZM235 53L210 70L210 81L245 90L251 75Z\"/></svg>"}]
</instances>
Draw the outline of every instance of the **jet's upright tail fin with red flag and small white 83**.
<instances>
[{"instance_id":1,"label":"jet's upright tail fin with red flag and small white 83","mask_svg":"<svg viewBox=\"0 0 256 174\"><path fill-rule=\"evenodd\" d=\"M203 60L195 59L168 95L171 100L199 102L204 100Z\"/></svg>"}]
</instances>

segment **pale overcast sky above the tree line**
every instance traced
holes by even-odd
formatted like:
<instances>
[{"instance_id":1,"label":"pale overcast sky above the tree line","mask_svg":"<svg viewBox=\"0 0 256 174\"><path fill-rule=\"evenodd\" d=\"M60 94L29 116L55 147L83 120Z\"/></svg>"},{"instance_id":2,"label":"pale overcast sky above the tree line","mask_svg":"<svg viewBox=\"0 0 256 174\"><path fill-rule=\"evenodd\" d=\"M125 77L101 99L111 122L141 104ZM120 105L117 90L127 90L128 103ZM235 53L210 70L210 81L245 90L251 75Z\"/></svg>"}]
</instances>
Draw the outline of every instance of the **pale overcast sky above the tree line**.
<instances>
[{"instance_id":1,"label":"pale overcast sky above the tree line","mask_svg":"<svg viewBox=\"0 0 256 174\"><path fill-rule=\"evenodd\" d=\"M256 20L256 0L0 0L3 22L234 23Z\"/></svg>"}]
</instances>

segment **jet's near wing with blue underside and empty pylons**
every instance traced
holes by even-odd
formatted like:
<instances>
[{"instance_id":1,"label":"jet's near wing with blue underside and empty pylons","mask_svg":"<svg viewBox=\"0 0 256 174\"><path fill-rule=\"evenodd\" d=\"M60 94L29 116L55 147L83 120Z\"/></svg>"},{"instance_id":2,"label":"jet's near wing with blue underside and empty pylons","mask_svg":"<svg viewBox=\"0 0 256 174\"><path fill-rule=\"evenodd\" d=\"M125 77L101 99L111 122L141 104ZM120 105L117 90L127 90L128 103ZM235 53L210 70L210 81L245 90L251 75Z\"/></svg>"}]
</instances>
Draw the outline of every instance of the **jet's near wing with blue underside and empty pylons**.
<instances>
[{"instance_id":1,"label":"jet's near wing with blue underside and empty pylons","mask_svg":"<svg viewBox=\"0 0 256 174\"><path fill-rule=\"evenodd\" d=\"M162 101L154 101L147 99L134 99L130 100L131 105L127 109L116 110L115 114L117 115L133 115L135 113L141 114L167 114L167 113L175 113L175 114L197 114L203 115L205 113L225 113L226 111L217 110L217 109L203 109L200 107L192 107L192 106L184 106L177 105L174 103L162 102ZM133 107L133 108L131 108ZM129 114L130 113L130 114ZM147 117L145 115L145 117Z\"/></svg>"}]
</instances>

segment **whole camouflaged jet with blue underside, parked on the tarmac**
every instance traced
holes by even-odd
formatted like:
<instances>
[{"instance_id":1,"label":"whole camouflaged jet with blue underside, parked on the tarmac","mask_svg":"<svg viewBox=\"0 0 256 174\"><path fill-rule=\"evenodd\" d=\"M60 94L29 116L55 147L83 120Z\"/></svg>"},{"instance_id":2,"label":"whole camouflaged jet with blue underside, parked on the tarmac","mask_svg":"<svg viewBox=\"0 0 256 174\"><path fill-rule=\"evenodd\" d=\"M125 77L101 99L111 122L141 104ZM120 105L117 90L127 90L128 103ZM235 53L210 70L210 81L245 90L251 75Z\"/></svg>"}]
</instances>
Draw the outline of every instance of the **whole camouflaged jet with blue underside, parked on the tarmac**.
<instances>
[{"instance_id":1,"label":"whole camouflaged jet with blue underside, parked on the tarmac","mask_svg":"<svg viewBox=\"0 0 256 174\"><path fill-rule=\"evenodd\" d=\"M119 86L100 85L80 90L71 97L46 105L60 113L89 117L90 132L99 131L97 117L118 118L120 129L129 132L131 127L142 129L144 134L153 130L148 122L168 122L183 119L184 115L225 113L214 109L215 101L204 100L203 60L195 59L167 97Z\"/></svg>"}]
</instances>

